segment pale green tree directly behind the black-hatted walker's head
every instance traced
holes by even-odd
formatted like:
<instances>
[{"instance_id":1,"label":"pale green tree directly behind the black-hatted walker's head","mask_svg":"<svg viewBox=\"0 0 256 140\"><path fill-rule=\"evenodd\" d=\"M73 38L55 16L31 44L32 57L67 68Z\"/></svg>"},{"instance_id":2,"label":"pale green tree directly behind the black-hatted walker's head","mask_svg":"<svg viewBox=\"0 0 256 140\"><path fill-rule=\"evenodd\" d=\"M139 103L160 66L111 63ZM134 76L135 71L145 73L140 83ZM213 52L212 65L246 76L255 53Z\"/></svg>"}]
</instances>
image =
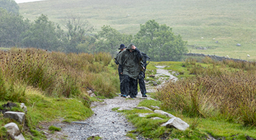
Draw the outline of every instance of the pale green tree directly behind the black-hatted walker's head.
<instances>
[{"instance_id":1,"label":"pale green tree directly behind the black-hatted walker's head","mask_svg":"<svg viewBox=\"0 0 256 140\"><path fill-rule=\"evenodd\" d=\"M104 25L101 31L98 31L95 52L110 52L111 55L115 55L119 45L121 43L128 45L132 38L132 35L121 34L109 25Z\"/></svg>"}]
</instances>

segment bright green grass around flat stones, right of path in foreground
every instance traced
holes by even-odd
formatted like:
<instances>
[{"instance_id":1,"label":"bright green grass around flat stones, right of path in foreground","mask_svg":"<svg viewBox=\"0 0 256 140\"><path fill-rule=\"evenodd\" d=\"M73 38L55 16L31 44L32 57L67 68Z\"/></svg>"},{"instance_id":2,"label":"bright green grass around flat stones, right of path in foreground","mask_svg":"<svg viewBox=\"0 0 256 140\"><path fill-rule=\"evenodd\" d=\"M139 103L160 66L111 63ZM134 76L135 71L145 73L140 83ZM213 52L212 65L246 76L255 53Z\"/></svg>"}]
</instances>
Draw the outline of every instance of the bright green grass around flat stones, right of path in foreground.
<instances>
[{"instance_id":1,"label":"bright green grass around flat stones, right of path in foreground","mask_svg":"<svg viewBox=\"0 0 256 140\"><path fill-rule=\"evenodd\" d=\"M139 106L146 106L151 108L151 106L160 106L161 102L153 100L143 100L140 102ZM116 109L115 109L116 110ZM162 123L167 122L169 118L162 116L158 113L153 113L146 117L139 117L137 113L152 113L151 111L134 109L132 111L118 111L125 113L130 122L136 126L136 130L133 130L127 134L127 136L135 138L137 135L142 135L143 137L152 139L206 139L207 135L210 134L215 139L238 139L245 140L246 136L256 137L255 127L245 127L238 123L229 123L224 120L213 120L207 118L190 118L182 115L179 112L169 112L172 115L184 120L190 127L186 131L176 130L174 128L160 127ZM160 117L164 120L151 120L153 117ZM196 127L192 129L192 126Z\"/></svg>"}]
</instances>

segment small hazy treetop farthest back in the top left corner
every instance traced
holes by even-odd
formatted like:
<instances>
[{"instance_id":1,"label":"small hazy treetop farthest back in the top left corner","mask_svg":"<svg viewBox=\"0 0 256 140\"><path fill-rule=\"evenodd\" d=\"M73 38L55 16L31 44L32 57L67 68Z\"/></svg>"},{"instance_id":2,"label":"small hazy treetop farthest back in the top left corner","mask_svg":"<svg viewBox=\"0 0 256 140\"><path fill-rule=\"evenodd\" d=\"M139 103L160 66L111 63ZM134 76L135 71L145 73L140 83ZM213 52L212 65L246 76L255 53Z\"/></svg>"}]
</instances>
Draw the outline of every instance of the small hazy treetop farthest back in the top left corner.
<instances>
[{"instance_id":1,"label":"small hazy treetop farthest back in the top left corner","mask_svg":"<svg viewBox=\"0 0 256 140\"><path fill-rule=\"evenodd\" d=\"M4 8L8 13L19 15L20 6L14 0L0 0L0 8Z\"/></svg>"}]
</instances>

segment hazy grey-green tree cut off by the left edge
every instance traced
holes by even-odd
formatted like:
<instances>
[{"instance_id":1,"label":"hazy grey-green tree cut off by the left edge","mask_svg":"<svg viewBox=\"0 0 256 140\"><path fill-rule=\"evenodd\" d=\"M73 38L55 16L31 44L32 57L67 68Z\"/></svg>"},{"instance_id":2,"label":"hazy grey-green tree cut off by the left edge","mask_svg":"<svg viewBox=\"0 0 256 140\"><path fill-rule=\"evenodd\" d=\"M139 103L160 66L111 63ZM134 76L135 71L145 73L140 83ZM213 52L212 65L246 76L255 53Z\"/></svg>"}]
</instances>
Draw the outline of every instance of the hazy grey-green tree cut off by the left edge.
<instances>
[{"instance_id":1,"label":"hazy grey-green tree cut off by the left edge","mask_svg":"<svg viewBox=\"0 0 256 140\"><path fill-rule=\"evenodd\" d=\"M20 47L22 34L30 27L29 20L23 20L21 15L8 13L0 9L0 44L1 47Z\"/></svg>"}]
</instances>

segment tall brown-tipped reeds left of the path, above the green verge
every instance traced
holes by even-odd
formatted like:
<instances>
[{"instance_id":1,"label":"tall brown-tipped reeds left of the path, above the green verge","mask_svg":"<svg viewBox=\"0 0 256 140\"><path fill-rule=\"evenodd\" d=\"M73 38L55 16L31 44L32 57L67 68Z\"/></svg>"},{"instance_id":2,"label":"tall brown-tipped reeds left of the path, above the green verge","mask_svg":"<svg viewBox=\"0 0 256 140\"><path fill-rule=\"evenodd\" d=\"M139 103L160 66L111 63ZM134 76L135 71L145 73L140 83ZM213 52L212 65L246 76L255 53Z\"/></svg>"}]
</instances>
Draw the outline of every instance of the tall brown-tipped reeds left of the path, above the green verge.
<instances>
[{"instance_id":1,"label":"tall brown-tipped reeds left of the path, above the green verge","mask_svg":"<svg viewBox=\"0 0 256 140\"><path fill-rule=\"evenodd\" d=\"M51 97L80 96L89 89L102 96L113 97L118 89L115 81L118 77L114 73L102 75L111 73L108 70L111 59L108 53L65 54L35 48L0 51L1 100L25 102L27 86L39 88ZM98 78L99 75L104 78ZM23 88L18 88L20 86ZM23 89L24 92L14 95L15 89Z\"/></svg>"}]
</instances>

